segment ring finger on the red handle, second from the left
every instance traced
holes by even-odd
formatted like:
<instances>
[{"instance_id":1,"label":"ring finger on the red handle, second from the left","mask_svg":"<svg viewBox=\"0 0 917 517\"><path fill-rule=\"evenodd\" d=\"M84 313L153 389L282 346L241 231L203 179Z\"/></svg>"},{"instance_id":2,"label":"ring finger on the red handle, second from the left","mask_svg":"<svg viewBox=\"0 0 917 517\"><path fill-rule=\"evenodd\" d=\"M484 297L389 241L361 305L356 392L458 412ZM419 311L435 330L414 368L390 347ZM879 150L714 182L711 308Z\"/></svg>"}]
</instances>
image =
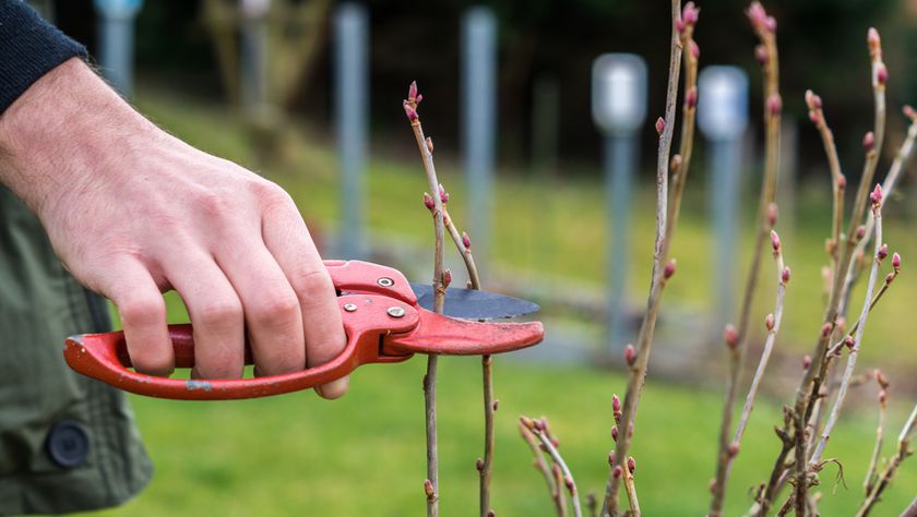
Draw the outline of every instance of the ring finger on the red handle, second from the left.
<instances>
[{"instance_id":1,"label":"ring finger on the red handle, second from the left","mask_svg":"<svg viewBox=\"0 0 917 517\"><path fill-rule=\"evenodd\" d=\"M172 255L166 277L181 294L194 328L194 372L203 378L239 378L245 360L242 303L214 262L200 254Z\"/></svg>"}]
</instances>

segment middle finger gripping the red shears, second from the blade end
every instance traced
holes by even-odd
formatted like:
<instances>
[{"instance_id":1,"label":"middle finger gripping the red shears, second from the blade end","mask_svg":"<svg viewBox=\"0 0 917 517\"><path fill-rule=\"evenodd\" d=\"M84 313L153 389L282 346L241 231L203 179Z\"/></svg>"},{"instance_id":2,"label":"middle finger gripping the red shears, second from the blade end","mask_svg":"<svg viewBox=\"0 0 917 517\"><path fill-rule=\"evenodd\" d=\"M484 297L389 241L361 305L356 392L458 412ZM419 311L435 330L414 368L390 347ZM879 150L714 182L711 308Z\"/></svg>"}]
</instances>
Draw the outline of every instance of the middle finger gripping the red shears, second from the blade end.
<instances>
[{"instance_id":1,"label":"middle finger gripping the red shears, second from the blade end","mask_svg":"<svg viewBox=\"0 0 917 517\"><path fill-rule=\"evenodd\" d=\"M306 340L299 300L264 244L223 245L216 261L241 300L258 375L303 370Z\"/></svg>"}]
</instances>

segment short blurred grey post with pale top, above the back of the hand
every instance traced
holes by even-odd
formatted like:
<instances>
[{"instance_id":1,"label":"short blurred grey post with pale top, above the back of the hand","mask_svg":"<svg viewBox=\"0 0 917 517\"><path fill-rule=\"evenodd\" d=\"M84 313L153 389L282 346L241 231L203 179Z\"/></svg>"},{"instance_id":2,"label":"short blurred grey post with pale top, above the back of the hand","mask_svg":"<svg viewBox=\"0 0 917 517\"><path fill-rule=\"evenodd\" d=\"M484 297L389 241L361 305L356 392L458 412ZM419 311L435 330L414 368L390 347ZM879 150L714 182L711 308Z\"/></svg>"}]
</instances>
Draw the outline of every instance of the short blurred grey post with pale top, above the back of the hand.
<instances>
[{"instance_id":1,"label":"short blurred grey post with pale top, above the back of the hand","mask_svg":"<svg viewBox=\"0 0 917 517\"><path fill-rule=\"evenodd\" d=\"M242 24L239 77L242 109L257 113L267 104L267 24L271 0L240 0Z\"/></svg>"}]
</instances>

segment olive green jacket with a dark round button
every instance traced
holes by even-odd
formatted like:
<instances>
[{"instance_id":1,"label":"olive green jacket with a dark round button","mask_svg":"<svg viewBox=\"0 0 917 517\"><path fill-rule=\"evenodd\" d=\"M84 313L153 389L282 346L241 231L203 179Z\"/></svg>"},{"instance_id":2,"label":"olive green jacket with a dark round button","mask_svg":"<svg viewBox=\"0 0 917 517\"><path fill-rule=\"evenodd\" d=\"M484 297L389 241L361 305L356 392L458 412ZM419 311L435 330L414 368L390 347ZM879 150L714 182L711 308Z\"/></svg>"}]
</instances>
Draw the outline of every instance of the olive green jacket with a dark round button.
<instances>
[{"instance_id":1,"label":"olive green jacket with a dark round button","mask_svg":"<svg viewBox=\"0 0 917 517\"><path fill-rule=\"evenodd\" d=\"M105 301L0 187L0 515L115 506L150 481L124 394L63 361L67 336L109 326Z\"/></svg>"}]
</instances>

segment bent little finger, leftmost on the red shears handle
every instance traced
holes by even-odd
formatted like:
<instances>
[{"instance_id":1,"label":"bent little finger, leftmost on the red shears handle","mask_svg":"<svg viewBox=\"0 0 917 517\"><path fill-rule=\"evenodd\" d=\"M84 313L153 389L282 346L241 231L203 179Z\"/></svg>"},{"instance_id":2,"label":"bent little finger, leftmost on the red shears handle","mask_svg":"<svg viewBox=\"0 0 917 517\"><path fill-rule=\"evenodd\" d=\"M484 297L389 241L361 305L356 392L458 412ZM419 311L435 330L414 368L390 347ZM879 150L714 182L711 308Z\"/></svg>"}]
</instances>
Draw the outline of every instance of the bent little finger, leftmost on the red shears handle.
<instances>
[{"instance_id":1,"label":"bent little finger, leftmost on the red shears handle","mask_svg":"<svg viewBox=\"0 0 917 517\"><path fill-rule=\"evenodd\" d=\"M134 369L168 376L175 370L175 352L166 327L166 304L150 272L139 262L124 260L105 277L103 294L118 306Z\"/></svg>"}]
</instances>

